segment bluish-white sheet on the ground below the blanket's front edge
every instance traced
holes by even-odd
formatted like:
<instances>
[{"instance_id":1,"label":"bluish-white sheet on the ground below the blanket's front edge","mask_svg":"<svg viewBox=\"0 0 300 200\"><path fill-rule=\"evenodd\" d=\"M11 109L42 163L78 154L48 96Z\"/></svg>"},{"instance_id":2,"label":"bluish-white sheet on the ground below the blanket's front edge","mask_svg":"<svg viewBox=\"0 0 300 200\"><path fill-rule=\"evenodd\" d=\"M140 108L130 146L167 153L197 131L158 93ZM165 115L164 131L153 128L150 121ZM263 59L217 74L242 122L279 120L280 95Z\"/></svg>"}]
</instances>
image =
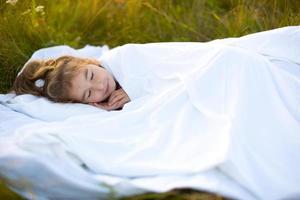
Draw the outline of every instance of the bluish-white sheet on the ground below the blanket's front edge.
<instances>
[{"instance_id":1,"label":"bluish-white sheet on the ground below the blanket's front edge","mask_svg":"<svg viewBox=\"0 0 300 200\"><path fill-rule=\"evenodd\" d=\"M190 187L229 197L253 199L244 188L216 168L191 175L138 178L94 174L76 160L69 160L68 156L41 156L16 145L16 130L25 124L39 123L39 120L12 111L2 104L0 120L0 177L25 198L104 199L112 195L128 196Z\"/></svg>"}]
</instances>

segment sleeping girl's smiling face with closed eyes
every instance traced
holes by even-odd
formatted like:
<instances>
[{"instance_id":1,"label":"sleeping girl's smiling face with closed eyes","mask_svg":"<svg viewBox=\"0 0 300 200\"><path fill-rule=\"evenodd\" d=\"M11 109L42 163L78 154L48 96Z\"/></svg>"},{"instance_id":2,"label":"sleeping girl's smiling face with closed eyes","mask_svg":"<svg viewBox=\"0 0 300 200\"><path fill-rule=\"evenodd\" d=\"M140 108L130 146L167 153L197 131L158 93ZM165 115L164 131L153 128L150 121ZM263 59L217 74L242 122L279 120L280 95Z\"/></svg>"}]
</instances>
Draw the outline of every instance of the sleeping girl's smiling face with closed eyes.
<instances>
[{"instance_id":1,"label":"sleeping girl's smiling face with closed eyes","mask_svg":"<svg viewBox=\"0 0 300 200\"><path fill-rule=\"evenodd\" d=\"M116 90L113 76L104 68L87 64L72 80L71 99L82 103L98 103Z\"/></svg>"}]
</instances>

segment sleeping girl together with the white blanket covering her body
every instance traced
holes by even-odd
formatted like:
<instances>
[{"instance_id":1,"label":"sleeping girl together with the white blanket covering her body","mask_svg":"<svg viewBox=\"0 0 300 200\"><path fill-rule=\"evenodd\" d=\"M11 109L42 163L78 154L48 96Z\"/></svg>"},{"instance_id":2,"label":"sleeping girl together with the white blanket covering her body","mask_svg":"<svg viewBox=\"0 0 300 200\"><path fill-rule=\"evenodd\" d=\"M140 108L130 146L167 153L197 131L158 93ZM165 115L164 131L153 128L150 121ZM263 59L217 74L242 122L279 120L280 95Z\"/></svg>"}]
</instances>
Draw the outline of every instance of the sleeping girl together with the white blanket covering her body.
<instances>
[{"instance_id":1,"label":"sleeping girl together with the white blanket covering her body","mask_svg":"<svg viewBox=\"0 0 300 200\"><path fill-rule=\"evenodd\" d=\"M95 174L127 178L217 168L255 199L299 199L299 48L294 26L29 62L16 94L122 111L33 124L20 130L20 145L71 152ZM64 151L49 151L53 141Z\"/></svg>"}]
</instances>

